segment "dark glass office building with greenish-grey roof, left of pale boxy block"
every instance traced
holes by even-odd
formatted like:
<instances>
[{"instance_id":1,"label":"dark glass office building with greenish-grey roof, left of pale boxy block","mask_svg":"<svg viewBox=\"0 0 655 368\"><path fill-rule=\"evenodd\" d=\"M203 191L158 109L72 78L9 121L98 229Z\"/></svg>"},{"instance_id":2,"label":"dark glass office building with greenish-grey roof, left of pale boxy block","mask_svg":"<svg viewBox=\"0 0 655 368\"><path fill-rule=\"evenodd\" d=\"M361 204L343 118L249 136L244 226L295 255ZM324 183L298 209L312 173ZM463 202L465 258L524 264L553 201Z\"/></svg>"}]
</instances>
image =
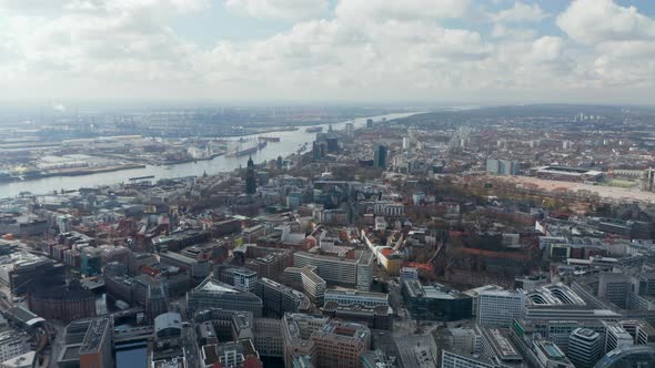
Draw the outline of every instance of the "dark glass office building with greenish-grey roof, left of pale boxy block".
<instances>
[{"instance_id":1,"label":"dark glass office building with greenish-grey roof, left of pale boxy block","mask_svg":"<svg viewBox=\"0 0 655 368\"><path fill-rule=\"evenodd\" d=\"M441 284L421 285L416 279L402 282L405 307L413 319L460 320L471 318L472 298Z\"/></svg>"}]
</instances>

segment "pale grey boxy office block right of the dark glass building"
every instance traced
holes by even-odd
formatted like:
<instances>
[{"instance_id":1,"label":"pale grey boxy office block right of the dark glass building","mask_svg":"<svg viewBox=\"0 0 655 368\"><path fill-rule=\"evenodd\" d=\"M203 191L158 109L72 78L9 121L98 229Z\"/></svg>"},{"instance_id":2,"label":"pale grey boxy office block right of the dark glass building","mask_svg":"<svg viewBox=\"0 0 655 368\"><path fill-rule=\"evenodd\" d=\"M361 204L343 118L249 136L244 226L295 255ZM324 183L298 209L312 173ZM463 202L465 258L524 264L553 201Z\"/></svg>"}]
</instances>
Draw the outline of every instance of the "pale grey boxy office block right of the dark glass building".
<instances>
[{"instance_id":1,"label":"pale grey boxy office block right of the dark glass building","mask_svg":"<svg viewBox=\"0 0 655 368\"><path fill-rule=\"evenodd\" d=\"M521 290L485 290L480 293L477 324L486 327L510 327L521 318L525 294Z\"/></svg>"}]
</instances>

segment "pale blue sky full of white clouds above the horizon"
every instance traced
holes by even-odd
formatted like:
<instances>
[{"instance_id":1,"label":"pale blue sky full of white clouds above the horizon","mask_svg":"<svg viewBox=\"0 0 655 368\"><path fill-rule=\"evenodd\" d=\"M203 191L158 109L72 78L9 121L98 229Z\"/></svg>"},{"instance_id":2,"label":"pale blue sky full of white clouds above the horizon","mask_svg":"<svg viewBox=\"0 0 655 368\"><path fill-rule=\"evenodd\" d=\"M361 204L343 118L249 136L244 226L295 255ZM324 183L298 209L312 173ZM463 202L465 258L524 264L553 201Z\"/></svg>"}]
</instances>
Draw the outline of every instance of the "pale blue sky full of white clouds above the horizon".
<instances>
[{"instance_id":1,"label":"pale blue sky full of white clouds above the horizon","mask_svg":"<svg viewBox=\"0 0 655 368\"><path fill-rule=\"evenodd\" d=\"M0 0L0 100L653 96L653 0Z\"/></svg>"}]
</instances>

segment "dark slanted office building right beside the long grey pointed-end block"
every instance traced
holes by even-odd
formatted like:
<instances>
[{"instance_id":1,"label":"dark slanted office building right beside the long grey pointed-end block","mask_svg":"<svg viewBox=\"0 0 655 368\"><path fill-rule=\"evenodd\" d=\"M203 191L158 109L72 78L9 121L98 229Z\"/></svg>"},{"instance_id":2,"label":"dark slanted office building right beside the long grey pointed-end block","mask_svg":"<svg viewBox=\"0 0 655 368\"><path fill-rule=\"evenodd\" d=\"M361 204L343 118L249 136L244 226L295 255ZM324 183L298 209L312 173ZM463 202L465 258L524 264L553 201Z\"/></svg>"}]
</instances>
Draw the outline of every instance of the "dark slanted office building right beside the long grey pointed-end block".
<instances>
[{"instance_id":1,"label":"dark slanted office building right beside the long grey pointed-end block","mask_svg":"<svg viewBox=\"0 0 655 368\"><path fill-rule=\"evenodd\" d=\"M254 294L262 300L264 315L280 318L285 313L309 311L310 299L302 293L269 278L260 278Z\"/></svg>"}]
</instances>

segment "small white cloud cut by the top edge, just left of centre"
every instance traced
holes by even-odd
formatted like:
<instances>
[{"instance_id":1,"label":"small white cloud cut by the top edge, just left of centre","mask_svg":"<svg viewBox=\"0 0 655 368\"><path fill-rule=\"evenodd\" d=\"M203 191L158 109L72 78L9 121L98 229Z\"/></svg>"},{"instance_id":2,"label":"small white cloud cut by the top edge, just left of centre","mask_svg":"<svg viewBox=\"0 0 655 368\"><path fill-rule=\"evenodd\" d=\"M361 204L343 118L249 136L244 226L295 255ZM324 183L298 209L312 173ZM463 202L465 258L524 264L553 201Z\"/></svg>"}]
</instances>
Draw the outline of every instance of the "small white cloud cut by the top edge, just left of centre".
<instances>
[{"instance_id":1,"label":"small white cloud cut by the top edge, just left of centre","mask_svg":"<svg viewBox=\"0 0 655 368\"><path fill-rule=\"evenodd\" d=\"M228 10L261 19L298 21L328 11L328 0L225 0Z\"/></svg>"}]
</instances>

